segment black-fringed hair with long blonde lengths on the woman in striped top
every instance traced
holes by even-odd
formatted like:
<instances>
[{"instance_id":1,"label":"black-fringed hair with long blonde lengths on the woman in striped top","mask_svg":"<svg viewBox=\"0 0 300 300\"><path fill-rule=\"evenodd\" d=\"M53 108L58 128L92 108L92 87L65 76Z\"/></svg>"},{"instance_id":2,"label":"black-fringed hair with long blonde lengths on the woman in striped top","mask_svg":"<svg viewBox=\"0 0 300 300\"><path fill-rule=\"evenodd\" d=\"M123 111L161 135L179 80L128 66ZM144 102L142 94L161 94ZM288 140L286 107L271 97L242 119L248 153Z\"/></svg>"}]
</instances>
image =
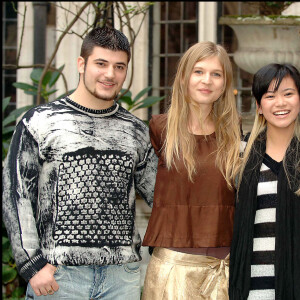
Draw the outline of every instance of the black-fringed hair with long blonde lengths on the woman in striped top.
<instances>
[{"instance_id":1,"label":"black-fringed hair with long blonde lengths on the woman in striped top","mask_svg":"<svg viewBox=\"0 0 300 300\"><path fill-rule=\"evenodd\" d=\"M269 64L264 67L262 67L257 73L254 75L253 79L253 85L252 85L252 93L256 99L257 106L259 107L261 105L261 99L262 96L268 91L268 88L272 82L273 79L275 79L275 87L274 92L276 92L279 88L279 85L283 78L290 76L297 87L298 95L300 97L300 74L298 70L290 65L290 64ZM237 170L238 174L238 180L237 180L237 189L239 190L242 178L243 178L243 172L245 170L246 164L249 160L249 155L251 152L252 147L254 146L254 142L257 139L257 137L262 133L263 131L267 130L267 121L263 114L259 114L258 107L256 109L255 119L253 123L253 127L251 130L251 134L249 136L244 154L243 154L243 160L242 163L239 166L239 170ZM296 153L295 159L295 170L296 170L296 176L299 176L300 172L300 161L299 161L299 153L300 149L299 142L300 142L300 117L298 114L298 117L295 120L294 125L294 132L293 137L296 137L298 140L297 143L297 149L293 149L294 153ZM298 155L297 155L298 154ZM287 166L286 166L286 156L283 158L283 167L285 170L285 173L287 175L287 179L290 182L290 176L291 174L288 174ZM299 183L298 183L299 184ZM295 191L296 195L300 196L300 186L298 186L297 190Z\"/></svg>"}]
</instances>

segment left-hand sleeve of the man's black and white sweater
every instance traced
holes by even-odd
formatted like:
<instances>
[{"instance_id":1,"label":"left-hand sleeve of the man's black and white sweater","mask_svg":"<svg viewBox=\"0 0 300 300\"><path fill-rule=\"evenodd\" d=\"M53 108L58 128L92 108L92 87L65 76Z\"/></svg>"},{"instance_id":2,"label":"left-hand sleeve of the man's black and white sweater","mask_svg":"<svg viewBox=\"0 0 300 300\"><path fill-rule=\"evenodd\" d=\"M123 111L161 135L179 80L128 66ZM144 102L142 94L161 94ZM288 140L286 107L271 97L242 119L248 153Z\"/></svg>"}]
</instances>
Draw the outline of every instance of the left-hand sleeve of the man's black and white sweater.
<instances>
[{"instance_id":1,"label":"left-hand sleeve of the man's black and white sweater","mask_svg":"<svg viewBox=\"0 0 300 300\"><path fill-rule=\"evenodd\" d=\"M21 121L4 162L2 210L18 271L27 281L47 263L36 227L39 170L38 144Z\"/></svg>"}]
</instances>

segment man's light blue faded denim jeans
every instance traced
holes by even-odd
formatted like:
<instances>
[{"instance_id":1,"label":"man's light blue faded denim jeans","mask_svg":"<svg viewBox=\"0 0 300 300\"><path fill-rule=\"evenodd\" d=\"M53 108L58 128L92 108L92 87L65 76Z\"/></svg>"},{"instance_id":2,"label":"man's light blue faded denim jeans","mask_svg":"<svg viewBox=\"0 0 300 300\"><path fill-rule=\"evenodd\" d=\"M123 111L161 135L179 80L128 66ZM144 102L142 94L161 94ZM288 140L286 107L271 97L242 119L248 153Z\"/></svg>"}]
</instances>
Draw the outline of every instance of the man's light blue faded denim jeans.
<instances>
[{"instance_id":1,"label":"man's light blue faded denim jeans","mask_svg":"<svg viewBox=\"0 0 300 300\"><path fill-rule=\"evenodd\" d=\"M59 290L36 296L28 283L26 300L139 300L140 262L107 266L62 266L54 274Z\"/></svg>"}]
</instances>

